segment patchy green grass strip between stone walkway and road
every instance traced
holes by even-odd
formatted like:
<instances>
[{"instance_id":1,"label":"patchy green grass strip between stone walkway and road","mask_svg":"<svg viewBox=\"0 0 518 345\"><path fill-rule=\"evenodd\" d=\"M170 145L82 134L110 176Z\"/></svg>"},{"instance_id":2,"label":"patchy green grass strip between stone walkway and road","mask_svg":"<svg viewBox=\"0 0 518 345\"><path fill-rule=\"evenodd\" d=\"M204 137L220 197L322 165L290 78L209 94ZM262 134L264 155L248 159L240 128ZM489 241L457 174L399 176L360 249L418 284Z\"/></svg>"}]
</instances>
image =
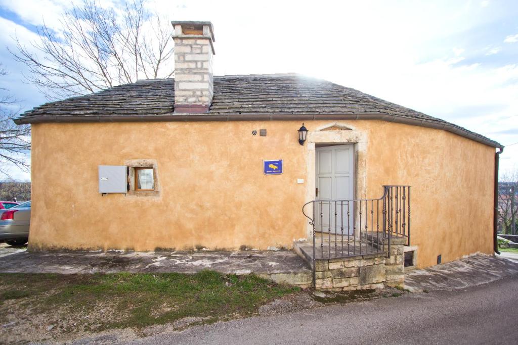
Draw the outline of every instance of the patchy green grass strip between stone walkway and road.
<instances>
[{"instance_id":1,"label":"patchy green grass strip between stone walkway and road","mask_svg":"<svg viewBox=\"0 0 518 345\"><path fill-rule=\"evenodd\" d=\"M194 317L214 322L246 316L261 305L299 291L254 275L0 274L0 311L20 301L27 313L61 310L87 331L145 327ZM100 310L100 311L99 311ZM104 312L103 314L99 314ZM83 321L84 320L84 321ZM72 323L72 322L71 322Z\"/></svg>"}]
</instances>

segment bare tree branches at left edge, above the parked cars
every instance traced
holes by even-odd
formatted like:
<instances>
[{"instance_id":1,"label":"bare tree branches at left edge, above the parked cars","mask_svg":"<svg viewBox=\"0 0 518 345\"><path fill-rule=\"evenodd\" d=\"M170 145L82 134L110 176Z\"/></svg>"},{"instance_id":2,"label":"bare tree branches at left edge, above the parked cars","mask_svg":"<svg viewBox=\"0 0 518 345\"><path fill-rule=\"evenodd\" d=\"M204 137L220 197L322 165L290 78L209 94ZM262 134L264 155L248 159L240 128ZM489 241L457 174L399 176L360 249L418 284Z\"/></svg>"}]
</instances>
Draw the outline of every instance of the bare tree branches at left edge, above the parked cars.
<instances>
[{"instance_id":1,"label":"bare tree branches at left edge, above the parked cars","mask_svg":"<svg viewBox=\"0 0 518 345\"><path fill-rule=\"evenodd\" d=\"M5 77L7 71L0 63L0 77ZM17 126L12 119L19 112L17 100L9 95L6 88L0 88L0 173L9 176L6 163L15 164L23 171L29 170L26 156L31 149L31 127Z\"/></svg>"}]
</instances>

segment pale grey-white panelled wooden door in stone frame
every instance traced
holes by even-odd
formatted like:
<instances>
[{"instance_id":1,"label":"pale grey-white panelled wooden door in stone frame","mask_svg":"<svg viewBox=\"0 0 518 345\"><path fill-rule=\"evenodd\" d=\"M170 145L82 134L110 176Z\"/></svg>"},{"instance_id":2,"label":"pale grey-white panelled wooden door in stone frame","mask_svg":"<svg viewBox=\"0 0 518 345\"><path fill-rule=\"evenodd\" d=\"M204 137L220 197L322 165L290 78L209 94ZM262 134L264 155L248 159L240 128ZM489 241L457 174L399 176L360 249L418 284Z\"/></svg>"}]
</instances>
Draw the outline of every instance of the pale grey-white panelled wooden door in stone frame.
<instances>
[{"instance_id":1,"label":"pale grey-white panelled wooden door in stone frame","mask_svg":"<svg viewBox=\"0 0 518 345\"><path fill-rule=\"evenodd\" d=\"M316 148L316 231L353 234L353 157L353 144Z\"/></svg>"}]
</instances>

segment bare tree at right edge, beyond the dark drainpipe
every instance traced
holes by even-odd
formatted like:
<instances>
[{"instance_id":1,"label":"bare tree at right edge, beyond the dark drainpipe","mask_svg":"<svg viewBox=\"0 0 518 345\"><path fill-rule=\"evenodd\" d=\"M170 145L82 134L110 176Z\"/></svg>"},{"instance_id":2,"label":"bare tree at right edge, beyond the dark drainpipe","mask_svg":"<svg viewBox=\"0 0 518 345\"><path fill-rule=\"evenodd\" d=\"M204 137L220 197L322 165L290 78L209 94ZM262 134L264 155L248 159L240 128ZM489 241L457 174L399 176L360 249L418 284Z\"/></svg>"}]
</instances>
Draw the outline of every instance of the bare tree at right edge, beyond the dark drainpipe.
<instances>
[{"instance_id":1,"label":"bare tree at right edge, beyond the dark drainpipe","mask_svg":"<svg viewBox=\"0 0 518 345\"><path fill-rule=\"evenodd\" d=\"M518 222L517 169L503 174L498 183L498 222L503 234L518 234L516 226L516 222Z\"/></svg>"}]
</instances>

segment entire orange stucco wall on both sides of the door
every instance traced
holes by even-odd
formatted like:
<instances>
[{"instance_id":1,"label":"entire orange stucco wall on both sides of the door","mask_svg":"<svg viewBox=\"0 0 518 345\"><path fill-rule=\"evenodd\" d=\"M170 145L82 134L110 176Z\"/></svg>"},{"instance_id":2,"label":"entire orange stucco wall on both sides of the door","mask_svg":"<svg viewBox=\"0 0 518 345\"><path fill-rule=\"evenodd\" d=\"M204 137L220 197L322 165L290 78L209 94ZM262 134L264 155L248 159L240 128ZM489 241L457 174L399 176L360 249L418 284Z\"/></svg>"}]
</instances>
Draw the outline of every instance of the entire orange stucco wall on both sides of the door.
<instances>
[{"instance_id":1,"label":"entire orange stucco wall on both sides of the door","mask_svg":"<svg viewBox=\"0 0 518 345\"><path fill-rule=\"evenodd\" d=\"M310 130L329 121L306 122ZM344 121L364 134L367 196L412 186L418 265L492 253L494 148L423 127ZM91 123L32 126L30 248L292 247L314 172L299 121ZM266 128L267 137L252 136ZM266 176L263 159L284 160ZM98 193L97 166L157 162L155 196ZM313 176L313 177L312 177ZM298 184L297 178L304 178Z\"/></svg>"}]
</instances>

